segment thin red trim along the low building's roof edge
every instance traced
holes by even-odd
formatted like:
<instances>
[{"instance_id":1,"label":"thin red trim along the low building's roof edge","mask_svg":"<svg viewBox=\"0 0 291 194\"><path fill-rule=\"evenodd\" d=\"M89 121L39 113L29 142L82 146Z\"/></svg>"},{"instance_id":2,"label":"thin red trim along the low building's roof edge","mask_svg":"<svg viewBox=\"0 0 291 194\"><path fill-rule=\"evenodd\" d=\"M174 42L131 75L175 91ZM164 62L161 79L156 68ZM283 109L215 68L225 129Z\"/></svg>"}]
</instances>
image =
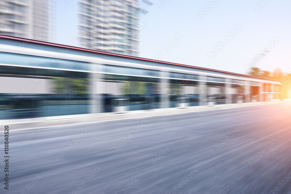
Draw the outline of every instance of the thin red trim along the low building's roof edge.
<instances>
[{"instance_id":1,"label":"thin red trim along the low building's roof edge","mask_svg":"<svg viewBox=\"0 0 291 194\"><path fill-rule=\"evenodd\" d=\"M191 66L191 65L183 65L183 64L179 64L179 63L171 63L171 62L154 60L154 59L147 59L147 58L141 58L141 57L127 56L127 55L122 55L122 54L108 53L108 52L103 52L103 51L96 51L96 50L92 50L92 49L85 49L85 48L81 48L81 47L61 45L61 44L56 44L56 43L51 43L51 42L43 42L43 41L38 41L38 40L26 39L26 38L18 38L18 37L14 37L14 36L3 35L3 34L0 34L0 38L8 39L8 40L17 40L17 41L21 41L21 42L35 43L35 44L39 44L39 45L47 45L47 46L53 46L53 47L74 49L74 50L79 50L79 51L87 51L87 52L93 52L93 53L105 54L105 55L111 55L111 56L119 56L119 57L125 57L125 58L137 59L137 60L144 60L144 61L150 61L150 62L156 62L156 63L164 63L164 64L168 64L168 65L178 65L178 66L183 66L183 67L191 67L191 68L196 68L196 69L210 70L210 71L215 71L215 72L242 75L242 76L260 78L260 79L268 79L268 78L263 78L263 77L256 77L256 76L251 76L251 75L226 72L226 71L208 69L208 68L203 68L203 67L196 67L196 66ZM279 81L279 80L275 80L275 79L269 79L269 80Z\"/></svg>"}]
</instances>

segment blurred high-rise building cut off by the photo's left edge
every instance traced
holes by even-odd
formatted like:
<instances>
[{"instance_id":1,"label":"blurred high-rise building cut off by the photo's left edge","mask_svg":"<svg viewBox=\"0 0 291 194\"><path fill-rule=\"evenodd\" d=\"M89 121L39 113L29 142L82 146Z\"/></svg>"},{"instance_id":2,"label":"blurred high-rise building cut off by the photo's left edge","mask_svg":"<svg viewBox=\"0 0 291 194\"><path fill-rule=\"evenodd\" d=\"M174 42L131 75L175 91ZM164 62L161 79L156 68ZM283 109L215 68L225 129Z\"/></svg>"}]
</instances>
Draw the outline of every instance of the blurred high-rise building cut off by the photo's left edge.
<instances>
[{"instance_id":1,"label":"blurred high-rise building cut off by the photo's left edge","mask_svg":"<svg viewBox=\"0 0 291 194\"><path fill-rule=\"evenodd\" d=\"M53 42L54 0L0 0L0 34Z\"/></svg>"}]
</instances>

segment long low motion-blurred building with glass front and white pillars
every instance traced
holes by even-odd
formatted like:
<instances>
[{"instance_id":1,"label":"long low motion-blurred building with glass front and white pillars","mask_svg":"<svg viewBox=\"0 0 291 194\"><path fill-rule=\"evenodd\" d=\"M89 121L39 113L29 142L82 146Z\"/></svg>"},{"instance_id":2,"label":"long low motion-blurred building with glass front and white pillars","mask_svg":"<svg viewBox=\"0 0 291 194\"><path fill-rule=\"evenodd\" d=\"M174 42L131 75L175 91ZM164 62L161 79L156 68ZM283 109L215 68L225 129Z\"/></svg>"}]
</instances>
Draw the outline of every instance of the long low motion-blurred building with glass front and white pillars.
<instances>
[{"instance_id":1,"label":"long low motion-blurred building with glass front and white pillars","mask_svg":"<svg viewBox=\"0 0 291 194\"><path fill-rule=\"evenodd\" d=\"M281 81L192 65L0 35L0 120L281 98Z\"/></svg>"}]
</instances>

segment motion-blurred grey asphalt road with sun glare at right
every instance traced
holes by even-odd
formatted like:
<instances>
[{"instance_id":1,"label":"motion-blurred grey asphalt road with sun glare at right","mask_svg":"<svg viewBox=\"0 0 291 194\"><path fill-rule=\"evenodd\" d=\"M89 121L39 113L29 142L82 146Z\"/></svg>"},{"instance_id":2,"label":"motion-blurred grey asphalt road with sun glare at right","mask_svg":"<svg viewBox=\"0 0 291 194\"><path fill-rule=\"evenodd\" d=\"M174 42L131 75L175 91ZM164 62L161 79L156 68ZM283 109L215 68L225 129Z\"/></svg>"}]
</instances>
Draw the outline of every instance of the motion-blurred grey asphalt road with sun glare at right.
<instances>
[{"instance_id":1,"label":"motion-blurred grey asphalt road with sun glare at right","mask_svg":"<svg viewBox=\"0 0 291 194\"><path fill-rule=\"evenodd\" d=\"M0 193L290 194L290 108L9 128L9 190L2 162Z\"/></svg>"}]
</instances>

